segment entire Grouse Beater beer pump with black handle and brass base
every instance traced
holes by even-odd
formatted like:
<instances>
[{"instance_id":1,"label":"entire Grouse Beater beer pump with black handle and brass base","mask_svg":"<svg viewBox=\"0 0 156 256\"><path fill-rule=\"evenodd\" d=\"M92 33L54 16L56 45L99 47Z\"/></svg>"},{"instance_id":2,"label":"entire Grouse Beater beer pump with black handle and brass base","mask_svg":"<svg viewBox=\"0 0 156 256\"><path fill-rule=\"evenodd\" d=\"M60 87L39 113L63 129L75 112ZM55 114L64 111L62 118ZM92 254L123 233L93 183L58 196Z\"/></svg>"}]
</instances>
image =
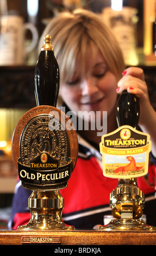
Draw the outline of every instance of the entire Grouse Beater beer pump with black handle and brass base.
<instances>
[{"instance_id":1,"label":"entire Grouse Beater beer pump with black handle and brass base","mask_svg":"<svg viewBox=\"0 0 156 256\"><path fill-rule=\"evenodd\" d=\"M118 129L102 136L100 150L103 173L110 178L117 178L118 185L110 193L114 218L107 225L99 227L99 230L156 231L155 227L146 225L141 220L145 196L137 185L137 178L148 172L151 141L148 134L136 130L139 114L138 98L124 91L119 96L116 107ZM111 169L108 164L110 159ZM141 162L138 159L141 159ZM124 160L129 163L124 163Z\"/></svg>"}]
</instances>

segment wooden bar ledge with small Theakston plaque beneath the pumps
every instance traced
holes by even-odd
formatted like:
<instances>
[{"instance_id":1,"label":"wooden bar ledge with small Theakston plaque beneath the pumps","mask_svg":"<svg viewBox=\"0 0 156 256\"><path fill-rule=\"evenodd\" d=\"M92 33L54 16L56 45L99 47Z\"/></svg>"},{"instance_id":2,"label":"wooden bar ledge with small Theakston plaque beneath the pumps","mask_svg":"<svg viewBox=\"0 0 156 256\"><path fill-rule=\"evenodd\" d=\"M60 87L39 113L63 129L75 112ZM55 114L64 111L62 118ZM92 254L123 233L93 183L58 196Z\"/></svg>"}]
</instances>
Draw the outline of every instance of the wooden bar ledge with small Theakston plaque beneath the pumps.
<instances>
[{"instance_id":1,"label":"wooden bar ledge with small Theakston plaque beneath the pumps","mask_svg":"<svg viewBox=\"0 0 156 256\"><path fill-rule=\"evenodd\" d=\"M53 240L53 241L52 241ZM0 231L0 245L156 245L153 231Z\"/></svg>"}]
</instances>

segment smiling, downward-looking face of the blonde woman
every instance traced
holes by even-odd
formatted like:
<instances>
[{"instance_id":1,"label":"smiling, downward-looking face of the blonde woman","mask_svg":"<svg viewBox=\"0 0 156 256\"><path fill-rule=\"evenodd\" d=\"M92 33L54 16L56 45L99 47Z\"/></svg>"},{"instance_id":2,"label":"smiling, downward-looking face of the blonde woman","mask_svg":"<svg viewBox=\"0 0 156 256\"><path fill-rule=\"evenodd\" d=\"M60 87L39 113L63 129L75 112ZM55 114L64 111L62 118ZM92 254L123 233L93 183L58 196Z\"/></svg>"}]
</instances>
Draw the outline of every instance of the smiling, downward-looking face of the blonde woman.
<instances>
[{"instance_id":1,"label":"smiling, downward-looking face of the blonde woman","mask_svg":"<svg viewBox=\"0 0 156 256\"><path fill-rule=\"evenodd\" d=\"M97 111L113 111L117 99L117 78L108 70L102 54L98 51L91 62L86 60L85 77L82 78L81 65L78 63L74 75L60 84L60 96L71 111L90 112L95 118Z\"/></svg>"}]
</instances>

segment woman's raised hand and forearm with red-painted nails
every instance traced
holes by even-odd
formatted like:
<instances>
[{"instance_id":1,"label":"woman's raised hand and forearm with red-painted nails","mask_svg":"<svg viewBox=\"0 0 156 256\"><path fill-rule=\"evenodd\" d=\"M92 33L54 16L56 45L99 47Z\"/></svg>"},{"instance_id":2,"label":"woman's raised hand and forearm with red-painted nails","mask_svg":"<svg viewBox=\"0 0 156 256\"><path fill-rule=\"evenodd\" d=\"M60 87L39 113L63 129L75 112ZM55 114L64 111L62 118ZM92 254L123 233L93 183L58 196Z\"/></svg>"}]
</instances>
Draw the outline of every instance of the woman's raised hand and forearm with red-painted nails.
<instances>
[{"instance_id":1,"label":"woman's raised hand and forearm with red-painted nails","mask_svg":"<svg viewBox=\"0 0 156 256\"><path fill-rule=\"evenodd\" d=\"M151 136L152 153L156 157L156 112L149 101L147 84L143 70L140 68L130 67L123 71L123 77L118 81L117 93L121 94L123 90L135 94L139 98L140 118L139 126L143 132Z\"/></svg>"}]
</instances>

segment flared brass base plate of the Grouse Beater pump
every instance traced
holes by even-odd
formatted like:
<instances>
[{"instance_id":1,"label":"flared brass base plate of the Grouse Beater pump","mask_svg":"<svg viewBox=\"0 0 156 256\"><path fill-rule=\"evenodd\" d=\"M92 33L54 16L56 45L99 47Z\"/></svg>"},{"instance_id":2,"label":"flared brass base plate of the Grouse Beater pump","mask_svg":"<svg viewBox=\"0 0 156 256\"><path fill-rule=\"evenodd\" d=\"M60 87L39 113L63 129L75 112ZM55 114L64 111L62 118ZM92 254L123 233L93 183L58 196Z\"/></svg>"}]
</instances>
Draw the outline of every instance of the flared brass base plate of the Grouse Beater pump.
<instances>
[{"instance_id":1,"label":"flared brass base plate of the Grouse Beater pump","mask_svg":"<svg viewBox=\"0 0 156 256\"><path fill-rule=\"evenodd\" d=\"M101 231L156 231L143 220L113 219L107 225L98 228Z\"/></svg>"}]
</instances>

